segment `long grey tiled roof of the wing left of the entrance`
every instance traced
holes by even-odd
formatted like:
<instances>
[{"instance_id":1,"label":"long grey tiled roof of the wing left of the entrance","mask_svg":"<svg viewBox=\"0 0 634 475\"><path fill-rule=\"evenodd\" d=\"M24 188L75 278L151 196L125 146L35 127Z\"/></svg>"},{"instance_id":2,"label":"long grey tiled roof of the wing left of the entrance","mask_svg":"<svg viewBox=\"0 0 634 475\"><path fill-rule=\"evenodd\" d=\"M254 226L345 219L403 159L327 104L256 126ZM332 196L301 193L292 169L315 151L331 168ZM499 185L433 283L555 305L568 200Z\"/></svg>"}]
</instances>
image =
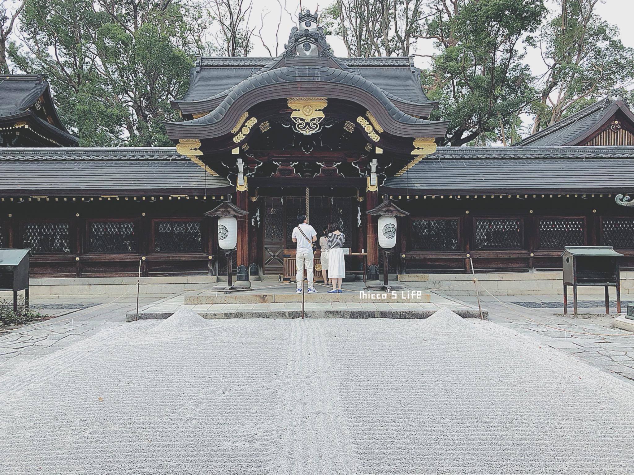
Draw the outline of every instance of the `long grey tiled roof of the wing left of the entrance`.
<instances>
[{"instance_id":1,"label":"long grey tiled roof of the wing left of the entrance","mask_svg":"<svg viewBox=\"0 0 634 475\"><path fill-rule=\"evenodd\" d=\"M229 186L174 148L0 149L0 194L204 191Z\"/></svg>"}]
</instances>

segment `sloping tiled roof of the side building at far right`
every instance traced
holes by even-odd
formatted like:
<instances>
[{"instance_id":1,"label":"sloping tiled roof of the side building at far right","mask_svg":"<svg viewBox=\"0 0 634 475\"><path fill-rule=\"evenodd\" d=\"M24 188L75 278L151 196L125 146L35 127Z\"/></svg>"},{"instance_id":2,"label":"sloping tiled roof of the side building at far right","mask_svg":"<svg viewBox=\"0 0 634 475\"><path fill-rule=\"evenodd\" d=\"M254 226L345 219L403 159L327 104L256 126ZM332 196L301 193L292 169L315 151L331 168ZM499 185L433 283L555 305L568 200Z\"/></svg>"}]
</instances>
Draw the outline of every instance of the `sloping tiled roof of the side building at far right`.
<instances>
[{"instance_id":1,"label":"sloping tiled roof of the side building at far right","mask_svg":"<svg viewBox=\"0 0 634 475\"><path fill-rule=\"evenodd\" d=\"M613 101L605 98L593 105L563 118L553 125L540 130L532 136L522 139L515 146L566 146L578 145L589 132L605 124L612 114L622 109L626 114L630 113L623 101Z\"/></svg>"}]
</instances>

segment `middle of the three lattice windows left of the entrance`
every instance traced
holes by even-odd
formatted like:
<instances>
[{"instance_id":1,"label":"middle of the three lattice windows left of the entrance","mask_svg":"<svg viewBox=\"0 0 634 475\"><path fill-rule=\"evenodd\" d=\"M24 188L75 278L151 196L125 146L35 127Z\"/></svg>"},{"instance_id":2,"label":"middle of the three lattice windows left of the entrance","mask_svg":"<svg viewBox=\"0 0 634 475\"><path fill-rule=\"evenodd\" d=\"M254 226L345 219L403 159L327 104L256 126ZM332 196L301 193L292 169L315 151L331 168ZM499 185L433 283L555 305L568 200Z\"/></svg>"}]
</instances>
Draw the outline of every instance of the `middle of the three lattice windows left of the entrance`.
<instances>
[{"instance_id":1,"label":"middle of the three lattice windows left of the entrance","mask_svg":"<svg viewBox=\"0 0 634 475\"><path fill-rule=\"evenodd\" d=\"M92 221L88 224L88 250L100 253L136 253L134 221Z\"/></svg>"}]
</instances>

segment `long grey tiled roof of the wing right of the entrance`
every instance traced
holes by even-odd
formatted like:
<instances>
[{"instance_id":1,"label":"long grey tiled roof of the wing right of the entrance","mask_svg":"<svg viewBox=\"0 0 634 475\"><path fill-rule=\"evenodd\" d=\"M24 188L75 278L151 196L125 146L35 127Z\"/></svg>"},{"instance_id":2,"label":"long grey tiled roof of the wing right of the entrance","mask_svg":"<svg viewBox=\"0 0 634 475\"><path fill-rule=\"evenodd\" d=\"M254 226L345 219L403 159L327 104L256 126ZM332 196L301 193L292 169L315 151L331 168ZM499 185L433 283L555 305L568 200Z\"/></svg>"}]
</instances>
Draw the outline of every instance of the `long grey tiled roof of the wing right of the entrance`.
<instances>
[{"instance_id":1,"label":"long grey tiled roof of the wing right of the entrance","mask_svg":"<svg viewBox=\"0 0 634 475\"><path fill-rule=\"evenodd\" d=\"M385 187L437 193L566 193L634 188L634 146L438 148Z\"/></svg>"}]
</instances>

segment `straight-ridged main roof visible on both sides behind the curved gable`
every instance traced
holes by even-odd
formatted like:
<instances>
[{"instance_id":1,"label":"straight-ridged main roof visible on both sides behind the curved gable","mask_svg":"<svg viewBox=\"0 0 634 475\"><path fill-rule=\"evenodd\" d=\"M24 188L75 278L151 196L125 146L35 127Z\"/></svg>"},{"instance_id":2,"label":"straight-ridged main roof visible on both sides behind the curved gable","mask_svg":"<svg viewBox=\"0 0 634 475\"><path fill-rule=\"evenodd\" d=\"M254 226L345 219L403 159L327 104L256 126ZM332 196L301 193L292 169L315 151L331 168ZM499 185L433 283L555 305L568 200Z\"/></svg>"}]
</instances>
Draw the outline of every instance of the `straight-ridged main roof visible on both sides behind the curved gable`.
<instances>
[{"instance_id":1,"label":"straight-ridged main roof visible on both sides behind the curved gable","mask_svg":"<svg viewBox=\"0 0 634 475\"><path fill-rule=\"evenodd\" d=\"M190 70L190 88L182 101L201 101L256 74L279 58L199 58ZM429 103L420 86L420 70L411 58L336 58L388 94L417 104Z\"/></svg>"}]
</instances>

